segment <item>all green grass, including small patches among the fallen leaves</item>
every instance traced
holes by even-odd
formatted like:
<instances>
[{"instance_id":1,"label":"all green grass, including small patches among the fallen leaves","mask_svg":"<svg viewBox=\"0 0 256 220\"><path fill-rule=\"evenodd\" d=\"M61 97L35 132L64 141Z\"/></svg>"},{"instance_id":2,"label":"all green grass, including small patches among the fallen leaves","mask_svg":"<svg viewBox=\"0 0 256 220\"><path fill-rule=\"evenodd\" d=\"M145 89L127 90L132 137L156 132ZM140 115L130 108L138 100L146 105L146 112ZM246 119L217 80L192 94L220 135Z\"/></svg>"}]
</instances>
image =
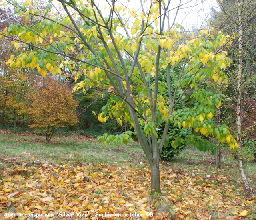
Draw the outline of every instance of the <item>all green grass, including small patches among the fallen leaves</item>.
<instances>
[{"instance_id":1,"label":"all green grass, including small patches among the fallen leaves","mask_svg":"<svg viewBox=\"0 0 256 220\"><path fill-rule=\"evenodd\" d=\"M54 137L46 144L44 137L37 136L32 133L13 134L11 132L2 132L0 134L0 168L10 167L11 163L15 164L15 158L21 158L26 161L26 166L30 167L34 164L38 165L42 161L49 163L56 163L64 165L72 163L75 166L80 166L82 163L92 164L93 169L102 170L107 165L118 166L120 174L125 167L136 167L143 169L149 168L148 161L138 143L116 146L114 144L104 147L102 143L98 143L96 138L86 138L84 136L72 135L68 137ZM10 157L12 160L10 161ZM197 178L195 184L207 184L208 179L215 181L215 185L228 183L233 185L233 191L237 196L246 196L245 192L241 190L242 180L240 178L237 161L231 156L230 152L222 149L221 169L216 169L215 156L210 152L203 153L192 147L187 147L172 161L162 161L160 163L160 170L174 171L175 173L182 173L187 176L200 176ZM10 165L6 162L9 162ZM246 163L246 171L250 179L252 187L256 188L256 163ZM25 177L33 175L32 171L24 172ZM105 173L106 177L110 176ZM209 177L209 175L211 175ZM216 181L213 176L221 179ZM211 179L212 178L212 179ZM1 175L0 175L1 179ZM141 182L140 176L134 176L134 180ZM177 179L180 181L180 179ZM26 190L26 188L24 188ZM104 191L98 190L94 192L96 196L101 196ZM174 213L170 216L173 219L175 212L167 202L166 195L169 193L176 194L176 189L170 188L169 191L162 191L162 195L153 193L150 196L152 208L161 210L162 212ZM125 196L125 194L124 194ZM205 195L198 194L204 200ZM226 198L226 194L222 195ZM180 198L182 199L182 198ZM230 200L232 198L230 197ZM178 200L177 200L178 201ZM175 203L175 202L174 202ZM256 207L248 212L247 219L256 219ZM211 211L212 219L218 219L216 210ZM191 218L194 218L191 216Z\"/></svg>"}]
</instances>

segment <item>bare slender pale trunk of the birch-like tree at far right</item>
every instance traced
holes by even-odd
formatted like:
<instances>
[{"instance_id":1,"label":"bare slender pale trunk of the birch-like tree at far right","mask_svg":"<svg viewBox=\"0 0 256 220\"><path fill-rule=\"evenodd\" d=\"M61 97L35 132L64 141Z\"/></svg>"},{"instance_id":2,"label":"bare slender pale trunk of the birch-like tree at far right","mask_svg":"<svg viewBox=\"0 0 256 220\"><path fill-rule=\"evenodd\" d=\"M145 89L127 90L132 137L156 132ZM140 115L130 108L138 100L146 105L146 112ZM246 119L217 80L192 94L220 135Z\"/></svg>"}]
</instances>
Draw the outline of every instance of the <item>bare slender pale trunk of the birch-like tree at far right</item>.
<instances>
[{"instance_id":1,"label":"bare slender pale trunk of the birch-like tree at far right","mask_svg":"<svg viewBox=\"0 0 256 220\"><path fill-rule=\"evenodd\" d=\"M238 47L238 55L239 55L239 65L238 65L238 94L237 94L237 117L236 117L236 125L237 125L237 144L238 144L238 165L241 173L241 177L244 183L244 187L247 193L252 196L252 187L250 186L250 182L248 181L246 171L244 169L241 152L242 152L242 43L243 43L243 27L242 27L242 2L238 0L238 19L239 19L239 47Z\"/></svg>"}]
</instances>

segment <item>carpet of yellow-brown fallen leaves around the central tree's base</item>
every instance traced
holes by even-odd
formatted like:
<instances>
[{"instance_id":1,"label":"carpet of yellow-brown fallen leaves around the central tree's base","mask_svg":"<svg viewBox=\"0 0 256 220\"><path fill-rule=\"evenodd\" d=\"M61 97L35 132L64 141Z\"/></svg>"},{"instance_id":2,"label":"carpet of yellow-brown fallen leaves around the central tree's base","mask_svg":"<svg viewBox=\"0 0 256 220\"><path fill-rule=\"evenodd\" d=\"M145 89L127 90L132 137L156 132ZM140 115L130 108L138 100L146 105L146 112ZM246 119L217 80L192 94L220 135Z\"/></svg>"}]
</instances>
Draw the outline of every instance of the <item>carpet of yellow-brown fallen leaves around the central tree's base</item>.
<instances>
[{"instance_id":1,"label":"carpet of yellow-brown fallen leaves around the central tree's base","mask_svg":"<svg viewBox=\"0 0 256 220\"><path fill-rule=\"evenodd\" d=\"M199 175L161 166L163 195L150 194L150 169L69 162L28 162L0 158L0 218L31 219L25 214L48 213L32 219L184 219L240 220L252 212L254 198L238 195L227 177ZM195 170L196 172L196 170ZM58 213L72 214L72 217ZM78 217L76 213L87 213ZM152 214L150 214L152 212ZM6 216L22 213L21 216ZM98 216L96 216L98 213ZM100 217L100 213L121 217ZM124 214L144 214L144 217ZM147 217L147 215L149 215ZM150 216L151 215L151 216Z\"/></svg>"}]
</instances>

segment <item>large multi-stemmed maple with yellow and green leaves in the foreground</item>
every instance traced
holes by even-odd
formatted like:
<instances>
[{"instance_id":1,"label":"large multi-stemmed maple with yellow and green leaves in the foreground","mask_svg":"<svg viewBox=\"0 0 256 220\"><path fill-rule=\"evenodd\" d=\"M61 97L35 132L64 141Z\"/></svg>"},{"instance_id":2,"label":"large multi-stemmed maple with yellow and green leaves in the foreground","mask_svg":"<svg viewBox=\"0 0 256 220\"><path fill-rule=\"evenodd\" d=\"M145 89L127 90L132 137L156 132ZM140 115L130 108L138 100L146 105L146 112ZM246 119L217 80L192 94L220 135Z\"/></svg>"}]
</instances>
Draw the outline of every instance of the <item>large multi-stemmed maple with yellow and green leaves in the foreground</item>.
<instances>
[{"instance_id":1,"label":"large multi-stemmed maple with yellow and green leaves in the foreground","mask_svg":"<svg viewBox=\"0 0 256 220\"><path fill-rule=\"evenodd\" d=\"M124 121L134 126L151 166L152 190L161 191L159 160L162 148L170 140L170 123L174 122L174 127L178 128L192 127L205 136L215 134L222 142L227 141L231 148L236 147L236 141L227 127L216 126L211 119L214 106L220 106L222 96L197 87L199 81L224 75L223 70L230 65L231 60L226 53L220 53L226 44L225 35L218 33L218 39L215 39L207 30L201 30L196 36L179 33L184 28L170 23L168 12L174 10L177 14L179 8L185 7L181 2L175 8L170 8L170 0L152 0L149 9L144 10L140 1L141 8L137 12L134 8L118 5L114 0L109 4L107 16L102 14L93 0L87 3L75 0L58 2L65 16L58 15L54 10L49 12L52 7L50 2L43 13L30 8L30 0L23 6L15 1L8 2L15 7L15 14L38 18L36 24L15 23L0 33L12 39L17 48L20 44L30 47L18 57L11 57L9 63L11 66L37 67L42 76L46 76L47 71L61 74L64 68L69 69L77 77L84 76L84 81L76 84L74 91L95 89L110 93L98 119L104 122L108 118L116 118L121 125ZM120 14L123 12L130 15L130 21ZM118 31L120 29L122 31ZM85 52L72 53L74 47L83 48ZM182 70L172 94L170 68L176 65L182 66ZM167 102L163 96L165 84L159 79L160 69L165 68ZM150 83L150 75L155 77L154 84ZM192 96L196 103L192 108L175 110L189 87L194 88ZM182 88L179 97L178 88ZM160 123L164 124L162 138L158 138L156 133ZM104 145L110 141L122 144L133 141L131 134L131 131L119 136L104 134L98 140L103 141ZM183 137L172 141L172 146L181 145L184 139L187 144L195 145L200 150L210 149L214 152L202 137L186 132Z\"/></svg>"}]
</instances>

